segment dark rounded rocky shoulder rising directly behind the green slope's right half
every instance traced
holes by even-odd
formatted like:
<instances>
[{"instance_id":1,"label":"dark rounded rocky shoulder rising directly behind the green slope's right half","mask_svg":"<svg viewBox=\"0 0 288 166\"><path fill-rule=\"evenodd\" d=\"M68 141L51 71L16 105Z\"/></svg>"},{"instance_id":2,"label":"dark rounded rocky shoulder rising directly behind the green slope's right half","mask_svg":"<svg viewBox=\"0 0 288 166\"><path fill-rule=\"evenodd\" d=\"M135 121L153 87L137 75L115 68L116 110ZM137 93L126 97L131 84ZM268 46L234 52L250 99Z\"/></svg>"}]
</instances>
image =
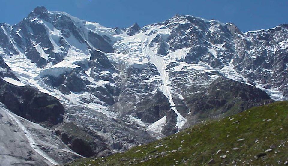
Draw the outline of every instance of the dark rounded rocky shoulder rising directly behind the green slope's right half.
<instances>
[{"instance_id":1,"label":"dark rounded rocky shoulder rising directly behind the green slope's right half","mask_svg":"<svg viewBox=\"0 0 288 166\"><path fill-rule=\"evenodd\" d=\"M251 107L273 102L269 95L261 89L225 78L216 79L207 90L201 93L183 96L191 111L188 119L193 117L194 122L194 116L197 116L198 121L229 116ZM191 120L187 122L187 124L190 123Z\"/></svg>"}]
</instances>

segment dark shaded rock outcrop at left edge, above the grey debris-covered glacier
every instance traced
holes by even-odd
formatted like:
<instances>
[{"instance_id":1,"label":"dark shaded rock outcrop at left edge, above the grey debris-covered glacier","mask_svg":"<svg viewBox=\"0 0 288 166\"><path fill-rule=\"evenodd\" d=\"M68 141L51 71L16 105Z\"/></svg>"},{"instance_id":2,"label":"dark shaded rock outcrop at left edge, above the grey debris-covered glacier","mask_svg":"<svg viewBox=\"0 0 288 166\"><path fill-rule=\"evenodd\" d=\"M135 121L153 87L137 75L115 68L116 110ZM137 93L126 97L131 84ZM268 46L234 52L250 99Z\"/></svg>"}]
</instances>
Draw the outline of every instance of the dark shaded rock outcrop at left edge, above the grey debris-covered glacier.
<instances>
[{"instance_id":1,"label":"dark shaded rock outcrop at left edge, above the grey debris-covered glacier","mask_svg":"<svg viewBox=\"0 0 288 166\"><path fill-rule=\"evenodd\" d=\"M0 78L0 101L13 113L32 122L55 125L63 120L64 107L57 98L31 86L15 86Z\"/></svg>"}]
</instances>

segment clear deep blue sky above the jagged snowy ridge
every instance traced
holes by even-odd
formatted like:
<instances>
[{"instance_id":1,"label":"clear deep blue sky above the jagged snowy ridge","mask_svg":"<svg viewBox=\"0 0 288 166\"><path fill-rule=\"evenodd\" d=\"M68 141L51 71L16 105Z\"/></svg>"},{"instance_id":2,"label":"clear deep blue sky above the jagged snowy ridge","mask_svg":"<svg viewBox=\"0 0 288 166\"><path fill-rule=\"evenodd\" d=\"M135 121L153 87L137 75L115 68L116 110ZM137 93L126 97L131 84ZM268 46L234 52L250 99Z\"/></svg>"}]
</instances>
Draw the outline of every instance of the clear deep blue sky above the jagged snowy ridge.
<instances>
[{"instance_id":1,"label":"clear deep blue sky above the jagged snowy ridge","mask_svg":"<svg viewBox=\"0 0 288 166\"><path fill-rule=\"evenodd\" d=\"M288 23L288 0L0 0L0 22L15 24L36 6L64 11L107 27L144 26L194 15L233 22L243 32Z\"/></svg>"}]
</instances>

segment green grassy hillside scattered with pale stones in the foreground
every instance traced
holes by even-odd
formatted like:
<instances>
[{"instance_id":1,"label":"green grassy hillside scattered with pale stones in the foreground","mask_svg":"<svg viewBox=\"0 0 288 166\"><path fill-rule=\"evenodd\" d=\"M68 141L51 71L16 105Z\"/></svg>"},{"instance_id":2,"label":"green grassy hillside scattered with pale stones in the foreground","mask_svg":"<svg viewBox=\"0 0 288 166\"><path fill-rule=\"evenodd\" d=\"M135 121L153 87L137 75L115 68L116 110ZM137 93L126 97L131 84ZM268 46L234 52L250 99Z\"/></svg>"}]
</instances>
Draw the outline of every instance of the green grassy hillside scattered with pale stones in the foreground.
<instances>
[{"instance_id":1,"label":"green grassy hillside scattered with pale stones in the foreground","mask_svg":"<svg viewBox=\"0 0 288 166\"><path fill-rule=\"evenodd\" d=\"M195 125L125 153L65 166L285 165L287 147L288 101L280 101Z\"/></svg>"}]
</instances>

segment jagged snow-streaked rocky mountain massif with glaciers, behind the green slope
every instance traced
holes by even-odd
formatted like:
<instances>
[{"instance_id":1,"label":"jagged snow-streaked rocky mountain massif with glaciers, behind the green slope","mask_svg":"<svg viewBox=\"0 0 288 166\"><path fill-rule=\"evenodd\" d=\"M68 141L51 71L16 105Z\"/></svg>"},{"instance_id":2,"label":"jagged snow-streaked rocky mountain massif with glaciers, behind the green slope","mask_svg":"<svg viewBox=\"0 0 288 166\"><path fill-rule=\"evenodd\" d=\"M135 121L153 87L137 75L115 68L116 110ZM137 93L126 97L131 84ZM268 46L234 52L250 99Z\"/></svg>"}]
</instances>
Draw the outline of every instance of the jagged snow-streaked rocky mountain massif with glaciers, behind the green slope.
<instances>
[{"instance_id":1,"label":"jagged snow-streaked rocky mountain massif with glaciers, behind the green slope","mask_svg":"<svg viewBox=\"0 0 288 166\"><path fill-rule=\"evenodd\" d=\"M176 15L107 28L37 7L0 27L0 101L85 157L288 97L287 24L243 33Z\"/></svg>"}]
</instances>

